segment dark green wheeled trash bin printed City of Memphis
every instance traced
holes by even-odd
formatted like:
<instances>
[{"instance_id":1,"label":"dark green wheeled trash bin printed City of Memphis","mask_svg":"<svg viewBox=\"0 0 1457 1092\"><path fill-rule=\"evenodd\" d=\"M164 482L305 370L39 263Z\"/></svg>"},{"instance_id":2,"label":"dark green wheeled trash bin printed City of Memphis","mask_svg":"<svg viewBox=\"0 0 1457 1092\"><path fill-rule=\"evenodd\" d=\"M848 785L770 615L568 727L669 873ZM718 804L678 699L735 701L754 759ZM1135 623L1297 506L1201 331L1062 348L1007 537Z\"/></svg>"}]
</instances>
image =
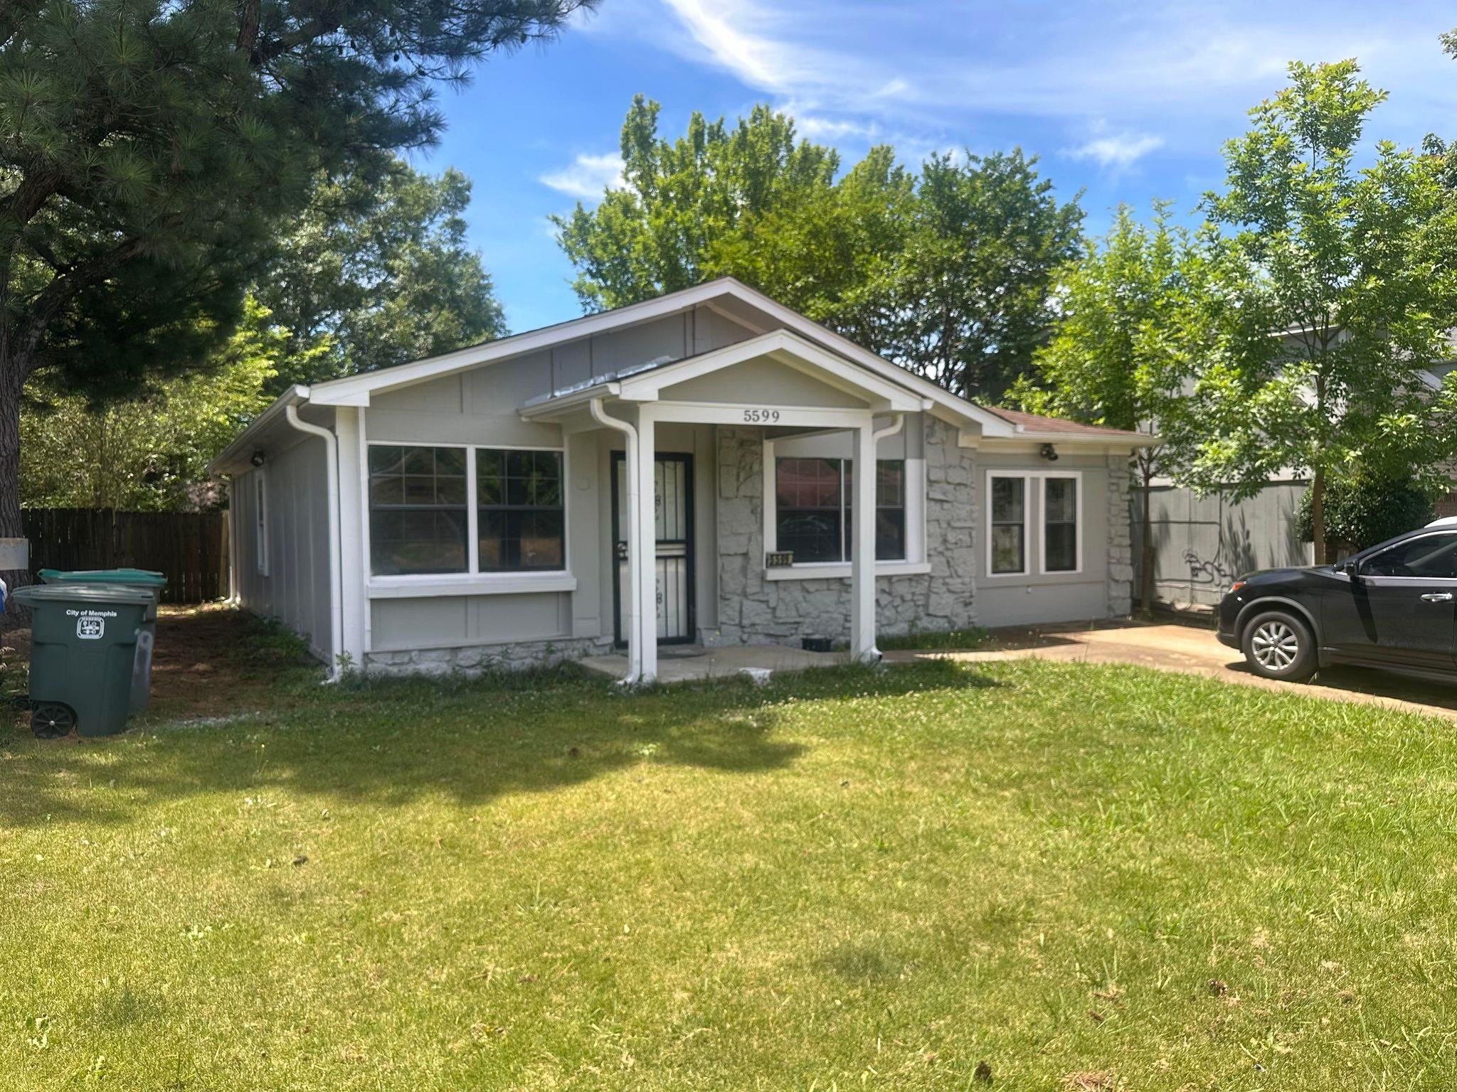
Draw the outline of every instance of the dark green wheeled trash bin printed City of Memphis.
<instances>
[{"instance_id":1,"label":"dark green wheeled trash bin printed City of Memphis","mask_svg":"<svg viewBox=\"0 0 1457 1092\"><path fill-rule=\"evenodd\" d=\"M137 638L152 594L96 584L32 584L31 728L39 737L115 735L131 712Z\"/></svg>"}]
</instances>

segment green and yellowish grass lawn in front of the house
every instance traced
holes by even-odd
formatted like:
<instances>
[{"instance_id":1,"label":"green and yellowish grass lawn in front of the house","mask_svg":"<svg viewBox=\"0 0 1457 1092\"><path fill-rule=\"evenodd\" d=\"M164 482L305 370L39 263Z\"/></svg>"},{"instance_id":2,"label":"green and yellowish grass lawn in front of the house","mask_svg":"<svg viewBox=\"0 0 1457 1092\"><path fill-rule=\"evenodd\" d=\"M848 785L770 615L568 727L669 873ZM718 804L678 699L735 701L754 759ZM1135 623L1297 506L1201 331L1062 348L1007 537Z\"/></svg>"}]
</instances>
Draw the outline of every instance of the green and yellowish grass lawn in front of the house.
<instances>
[{"instance_id":1,"label":"green and yellowish grass lawn in front of the house","mask_svg":"<svg viewBox=\"0 0 1457 1092\"><path fill-rule=\"evenodd\" d=\"M264 674L0 729L0 1088L1457 1082L1447 721L1030 661Z\"/></svg>"}]
</instances>

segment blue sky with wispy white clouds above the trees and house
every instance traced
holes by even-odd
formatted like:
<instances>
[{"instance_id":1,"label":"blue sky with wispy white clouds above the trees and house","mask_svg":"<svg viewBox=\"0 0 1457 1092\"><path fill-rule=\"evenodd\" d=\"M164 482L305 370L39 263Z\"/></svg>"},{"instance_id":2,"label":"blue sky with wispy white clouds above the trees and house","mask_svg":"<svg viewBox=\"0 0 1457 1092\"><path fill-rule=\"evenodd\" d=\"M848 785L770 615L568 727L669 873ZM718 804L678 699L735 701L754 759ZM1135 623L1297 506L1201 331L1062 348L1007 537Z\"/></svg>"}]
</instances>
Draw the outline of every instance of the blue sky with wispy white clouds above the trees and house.
<instances>
[{"instance_id":1,"label":"blue sky with wispy white clouds above the trees and house","mask_svg":"<svg viewBox=\"0 0 1457 1092\"><path fill-rule=\"evenodd\" d=\"M1391 93L1372 137L1457 135L1457 61L1438 44L1454 26L1451 4L1405 0L603 0L557 42L441 92L449 130L417 166L474 179L471 242L523 331L580 313L546 217L613 181L637 92L663 103L670 137L695 109L768 102L847 163L876 143L911 165L1021 146L1059 194L1085 191L1097 232L1120 201L1187 210L1218 185L1221 143L1289 60L1356 57Z\"/></svg>"}]
</instances>

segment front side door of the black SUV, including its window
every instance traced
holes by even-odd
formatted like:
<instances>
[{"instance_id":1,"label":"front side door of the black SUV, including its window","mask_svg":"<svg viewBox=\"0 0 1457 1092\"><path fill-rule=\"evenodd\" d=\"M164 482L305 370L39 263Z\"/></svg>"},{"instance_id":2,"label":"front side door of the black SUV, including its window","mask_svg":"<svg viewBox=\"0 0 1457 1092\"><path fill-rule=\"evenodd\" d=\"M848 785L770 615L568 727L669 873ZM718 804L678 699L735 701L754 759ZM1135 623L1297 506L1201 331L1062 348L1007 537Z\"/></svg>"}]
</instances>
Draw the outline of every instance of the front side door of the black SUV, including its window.
<instances>
[{"instance_id":1,"label":"front side door of the black SUV, including its window","mask_svg":"<svg viewBox=\"0 0 1457 1092\"><path fill-rule=\"evenodd\" d=\"M1332 577L1321 596L1324 644L1335 652L1448 671L1457 639L1457 534L1407 539Z\"/></svg>"}]
</instances>

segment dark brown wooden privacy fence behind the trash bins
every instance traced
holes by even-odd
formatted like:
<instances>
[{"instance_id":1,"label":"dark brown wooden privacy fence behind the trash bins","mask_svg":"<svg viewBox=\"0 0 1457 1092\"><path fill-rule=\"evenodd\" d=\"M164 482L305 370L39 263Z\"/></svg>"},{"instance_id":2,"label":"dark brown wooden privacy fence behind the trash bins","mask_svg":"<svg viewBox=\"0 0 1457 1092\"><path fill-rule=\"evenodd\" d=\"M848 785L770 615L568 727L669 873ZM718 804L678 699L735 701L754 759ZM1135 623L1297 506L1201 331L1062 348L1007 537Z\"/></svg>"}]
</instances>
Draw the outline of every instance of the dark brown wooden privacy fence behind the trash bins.
<instances>
[{"instance_id":1,"label":"dark brown wooden privacy fence behind the trash bins","mask_svg":"<svg viewBox=\"0 0 1457 1092\"><path fill-rule=\"evenodd\" d=\"M224 513L121 513L114 508L25 508L31 574L41 569L156 569L163 603L227 596Z\"/></svg>"}]
</instances>

